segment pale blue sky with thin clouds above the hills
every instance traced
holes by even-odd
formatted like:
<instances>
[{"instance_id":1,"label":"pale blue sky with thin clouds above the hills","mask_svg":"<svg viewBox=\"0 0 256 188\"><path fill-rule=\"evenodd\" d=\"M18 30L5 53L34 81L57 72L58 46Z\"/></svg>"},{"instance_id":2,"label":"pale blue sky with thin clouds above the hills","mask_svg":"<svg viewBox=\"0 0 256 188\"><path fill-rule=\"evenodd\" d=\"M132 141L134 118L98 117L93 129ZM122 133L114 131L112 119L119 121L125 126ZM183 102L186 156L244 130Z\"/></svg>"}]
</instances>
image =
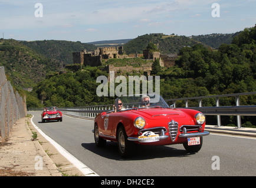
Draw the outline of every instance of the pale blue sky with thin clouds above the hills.
<instances>
[{"instance_id":1,"label":"pale blue sky with thin clouds above the hills","mask_svg":"<svg viewBox=\"0 0 256 188\"><path fill-rule=\"evenodd\" d=\"M212 16L215 3L218 17ZM256 0L0 0L0 38L93 42L146 33L234 33L256 24L255 9Z\"/></svg>"}]
</instances>

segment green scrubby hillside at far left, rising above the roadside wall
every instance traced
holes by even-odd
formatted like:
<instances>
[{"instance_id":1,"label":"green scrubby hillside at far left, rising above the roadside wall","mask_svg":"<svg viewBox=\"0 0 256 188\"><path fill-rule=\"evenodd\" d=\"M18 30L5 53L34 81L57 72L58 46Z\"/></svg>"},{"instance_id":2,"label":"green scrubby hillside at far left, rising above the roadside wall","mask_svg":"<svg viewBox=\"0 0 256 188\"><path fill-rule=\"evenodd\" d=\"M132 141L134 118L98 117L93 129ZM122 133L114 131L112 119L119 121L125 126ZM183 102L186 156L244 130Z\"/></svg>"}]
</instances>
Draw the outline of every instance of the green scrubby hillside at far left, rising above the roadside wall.
<instances>
[{"instance_id":1,"label":"green scrubby hillside at far left, rising above the roadside wall","mask_svg":"<svg viewBox=\"0 0 256 188\"><path fill-rule=\"evenodd\" d=\"M47 74L63 69L63 62L45 58L14 39L0 39L0 66L5 66L15 88L31 88Z\"/></svg>"}]
</instances>

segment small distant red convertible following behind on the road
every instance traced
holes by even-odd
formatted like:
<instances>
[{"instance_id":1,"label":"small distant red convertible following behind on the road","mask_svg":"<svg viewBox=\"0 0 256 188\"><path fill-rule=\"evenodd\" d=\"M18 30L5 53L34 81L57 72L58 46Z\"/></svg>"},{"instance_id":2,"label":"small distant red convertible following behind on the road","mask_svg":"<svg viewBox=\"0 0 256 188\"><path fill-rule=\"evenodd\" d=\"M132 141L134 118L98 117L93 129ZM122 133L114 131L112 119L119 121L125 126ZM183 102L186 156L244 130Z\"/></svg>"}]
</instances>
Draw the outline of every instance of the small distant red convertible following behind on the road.
<instances>
[{"instance_id":1,"label":"small distant red convertible following behind on the road","mask_svg":"<svg viewBox=\"0 0 256 188\"><path fill-rule=\"evenodd\" d=\"M41 114L42 123L50 120L57 120L62 122L62 113L56 106L44 108Z\"/></svg>"}]
</instances>

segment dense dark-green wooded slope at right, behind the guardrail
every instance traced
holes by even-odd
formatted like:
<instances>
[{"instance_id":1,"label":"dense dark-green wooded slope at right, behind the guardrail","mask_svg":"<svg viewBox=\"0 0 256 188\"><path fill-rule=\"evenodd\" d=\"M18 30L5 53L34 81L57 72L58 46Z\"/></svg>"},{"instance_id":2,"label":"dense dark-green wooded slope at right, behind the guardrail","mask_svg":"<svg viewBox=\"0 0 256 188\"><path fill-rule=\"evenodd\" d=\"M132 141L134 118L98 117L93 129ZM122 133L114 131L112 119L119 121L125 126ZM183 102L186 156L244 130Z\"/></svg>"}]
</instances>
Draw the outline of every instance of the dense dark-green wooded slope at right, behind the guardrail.
<instances>
[{"instance_id":1,"label":"dense dark-green wooded slope at right, behind the guardrail","mask_svg":"<svg viewBox=\"0 0 256 188\"><path fill-rule=\"evenodd\" d=\"M165 78L165 98L255 92L256 90L256 26L235 36L230 45L218 51L195 45L180 49L176 66L159 73ZM255 105L251 98L244 105ZM227 105L228 100L222 101Z\"/></svg>"}]
</instances>

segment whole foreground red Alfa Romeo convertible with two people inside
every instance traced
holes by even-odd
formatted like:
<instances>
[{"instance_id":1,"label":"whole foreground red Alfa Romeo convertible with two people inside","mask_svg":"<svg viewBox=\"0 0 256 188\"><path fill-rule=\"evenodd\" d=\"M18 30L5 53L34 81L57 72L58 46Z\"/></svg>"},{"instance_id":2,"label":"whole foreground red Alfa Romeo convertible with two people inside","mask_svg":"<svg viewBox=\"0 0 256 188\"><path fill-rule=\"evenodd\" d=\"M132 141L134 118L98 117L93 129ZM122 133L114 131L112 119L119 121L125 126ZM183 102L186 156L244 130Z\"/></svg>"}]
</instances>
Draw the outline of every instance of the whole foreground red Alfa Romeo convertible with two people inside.
<instances>
[{"instance_id":1,"label":"whole foreground red Alfa Romeo convertible with two people inside","mask_svg":"<svg viewBox=\"0 0 256 188\"><path fill-rule=\"evenodd\" d=\"M151 99L150 99L151 98ZM99 113L94 119L97 146L106 140L117 142L122 157L130 157L133 144L183 144L190 152L198 152L203 143L205 116L192 109L175 109L162 96L135 95L116 99L116 110Z\"/></svg>"}]
</instances>

